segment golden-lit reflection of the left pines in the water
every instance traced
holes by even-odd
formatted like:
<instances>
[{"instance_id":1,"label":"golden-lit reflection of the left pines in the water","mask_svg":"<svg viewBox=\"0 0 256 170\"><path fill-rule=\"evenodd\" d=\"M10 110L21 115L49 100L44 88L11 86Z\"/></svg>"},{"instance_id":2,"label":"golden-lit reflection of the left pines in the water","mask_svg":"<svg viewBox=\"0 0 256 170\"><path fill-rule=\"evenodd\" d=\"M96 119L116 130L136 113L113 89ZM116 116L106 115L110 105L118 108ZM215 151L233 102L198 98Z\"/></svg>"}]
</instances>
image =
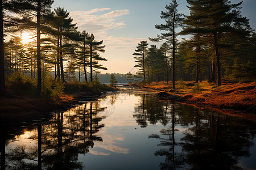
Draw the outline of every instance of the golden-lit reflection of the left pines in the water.
<instances>
[{"instance_id":1,"label":"golden-lit reflection of the left pines in the water","mask_svg":"<svg viewBox=\"0 0 256 170\"><path fill-rule=\"evenodd\" d=\"M1 137L1 169L82 169L79 154L88 153L95 141L102 142L96 135L104 127L100 122L105 117L98 116L102 111L97 102L89 102L57 113L48 122L32 126L20 139L29 142L8 148L6 155L6 139Z\"/></svg>"}]
</instances>

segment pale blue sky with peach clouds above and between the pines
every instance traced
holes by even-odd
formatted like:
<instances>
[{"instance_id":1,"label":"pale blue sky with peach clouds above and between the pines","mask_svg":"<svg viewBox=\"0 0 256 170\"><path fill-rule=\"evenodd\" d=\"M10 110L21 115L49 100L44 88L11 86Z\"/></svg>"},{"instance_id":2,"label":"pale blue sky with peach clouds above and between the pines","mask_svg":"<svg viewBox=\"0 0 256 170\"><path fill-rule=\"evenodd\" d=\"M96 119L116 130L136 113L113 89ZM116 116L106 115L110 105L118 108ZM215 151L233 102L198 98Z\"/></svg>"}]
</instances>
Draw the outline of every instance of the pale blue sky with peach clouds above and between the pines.
<instances>
[{"instance_id":1,"label":"pale blue sky with peach clouds above and between the pines","mask_svg":"<svg viewBox=\"0 0 256 170\"><path fill-rule=\"evenodd\" d=\"M135 73L134 56L138 43L148 37L156 37L160 31L155 24L164 23L160 11L171 0L55 0L52 9L63 7L70 12L79 31L93 33L97 41L103 40L105 53L101 56L108 61L101 62L108 70L101 73ZM241 1L232 0L232 3ZM187 2L177 0L179 13L189 15ZM256 29L256 0L244 0L241 14L250 19ZM156 44L159 46L159 44Z\"/></svg>"}]
</instances>

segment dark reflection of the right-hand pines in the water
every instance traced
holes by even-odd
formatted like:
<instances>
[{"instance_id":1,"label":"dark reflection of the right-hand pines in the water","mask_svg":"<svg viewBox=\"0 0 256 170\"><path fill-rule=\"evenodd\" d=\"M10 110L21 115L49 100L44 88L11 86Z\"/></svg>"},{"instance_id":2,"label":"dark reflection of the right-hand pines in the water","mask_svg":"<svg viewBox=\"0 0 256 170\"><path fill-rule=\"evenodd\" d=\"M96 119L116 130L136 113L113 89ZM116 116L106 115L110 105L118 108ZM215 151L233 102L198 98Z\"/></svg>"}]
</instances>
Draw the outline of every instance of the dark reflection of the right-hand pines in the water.
<instances>
[{"instance_id":1,"label":"dark reflection of the right-hand pines in the water","mask_svg":"<svg viewBox=\"0 0 256 170\"><path fill-rule=\"evenodd\" d=\"M141 95L134 111L142 128L157 123L167 127L148 137L160 140L155 156L166 157L160 169L240 169L239 160L250 156L254 122L147 95Z\"/></svg>"}]
</instances>

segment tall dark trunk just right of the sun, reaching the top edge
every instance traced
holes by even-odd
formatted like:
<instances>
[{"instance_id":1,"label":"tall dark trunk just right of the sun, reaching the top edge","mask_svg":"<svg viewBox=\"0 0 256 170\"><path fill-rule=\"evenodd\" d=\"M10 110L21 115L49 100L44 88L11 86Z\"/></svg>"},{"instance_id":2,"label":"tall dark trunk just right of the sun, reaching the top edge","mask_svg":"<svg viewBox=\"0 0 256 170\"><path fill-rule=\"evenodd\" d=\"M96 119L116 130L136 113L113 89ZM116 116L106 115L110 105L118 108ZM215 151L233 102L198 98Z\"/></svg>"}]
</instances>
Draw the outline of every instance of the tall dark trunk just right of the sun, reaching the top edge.
<instances>
[{"instance_id":1,"label":"tall dark trunk just right of the sun, reaching the top edge","mask_svg":"<svg viewBox=\"0 0 256 170\"><path fill-rule=\"evenodd\" d=\"M37 18L37 50L38 50L38 87L36 88L36 96L40 96L41 94L41 84L42 84L42 77L41 77L41 49L40 49L40 4L41 1L38 0L38 14L36 15Z\"/></svg>"}]
</instances>

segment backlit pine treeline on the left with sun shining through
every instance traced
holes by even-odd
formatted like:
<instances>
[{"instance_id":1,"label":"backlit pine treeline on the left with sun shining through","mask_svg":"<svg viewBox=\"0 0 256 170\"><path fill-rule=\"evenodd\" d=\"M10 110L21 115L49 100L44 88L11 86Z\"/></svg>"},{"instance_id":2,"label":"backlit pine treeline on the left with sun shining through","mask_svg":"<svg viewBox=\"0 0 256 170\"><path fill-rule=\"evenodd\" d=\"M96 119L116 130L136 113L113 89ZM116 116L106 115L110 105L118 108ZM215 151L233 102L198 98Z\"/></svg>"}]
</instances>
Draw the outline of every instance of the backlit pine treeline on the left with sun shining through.
<instances>
[{"instance_id":1,"label":"backlit pine treeline on the left with sun shining through","mask_svg":"<svg viewBox=\"0 0 256 170\"><path fill-rule=\"evenodd\" d=\"M37 84L36 96L42 91L44 77L54 71L57 83L70 81L77 71L79 81L93 82L93 73L107 70L99 61L106 61L98 52L105 52L102 41L93 34L78 31L69 12L62 7L51 11L53 0L1 1L0 91L6 92L5 75L30 74ZM8 14L15 15L8 15ZM24 44L22 35L36 37ZM4 41L5 37L5 41ZM89 73L88 77L86 73Z\"/></svg>"}]
</instances>

